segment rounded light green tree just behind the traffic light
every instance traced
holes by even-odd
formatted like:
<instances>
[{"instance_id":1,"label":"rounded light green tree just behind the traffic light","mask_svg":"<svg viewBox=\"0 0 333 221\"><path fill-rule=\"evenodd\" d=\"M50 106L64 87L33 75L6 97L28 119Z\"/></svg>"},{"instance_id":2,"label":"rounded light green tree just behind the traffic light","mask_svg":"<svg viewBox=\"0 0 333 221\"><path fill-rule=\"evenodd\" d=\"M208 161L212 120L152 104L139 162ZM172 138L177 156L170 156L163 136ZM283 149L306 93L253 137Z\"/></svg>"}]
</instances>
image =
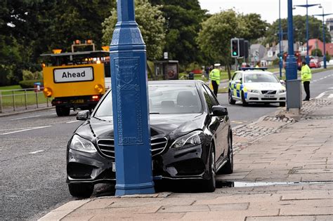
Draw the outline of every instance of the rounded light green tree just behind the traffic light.
<instances>
[{"instance_id":1,"label":"rounded light green tree just behind the traffic light","mask_svg":"<svg viewBox=\"0 0 333 221\"><path fill-rule=\"evenodd\" d=\"M242 36L241 25L233 10L222 11L202 22L202 29L197 36L201 51L214 62L227 66L230 79L230 39Z\"/></svg>"}]
</instances>

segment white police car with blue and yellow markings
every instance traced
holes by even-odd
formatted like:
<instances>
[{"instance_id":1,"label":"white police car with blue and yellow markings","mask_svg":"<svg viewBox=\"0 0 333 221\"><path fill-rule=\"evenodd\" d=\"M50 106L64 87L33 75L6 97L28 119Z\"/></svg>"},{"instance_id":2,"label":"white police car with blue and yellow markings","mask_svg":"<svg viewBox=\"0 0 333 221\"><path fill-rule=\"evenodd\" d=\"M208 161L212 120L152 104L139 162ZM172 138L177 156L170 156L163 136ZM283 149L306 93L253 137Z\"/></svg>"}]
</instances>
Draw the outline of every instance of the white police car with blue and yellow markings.
<instances>
[{"instance_id":1,"label":"white police car with blue and yellow markings","mask_svg":"<svg viewBox=\"0 0 333 221\"><path fill-rule=\"evenodd\" d=\"M229 81L229 104L235 105L236 101L241 101L243 106L247 106L249 102L278 102L280 107L285 107L286 88L282 83L264 68L242 68Z\"/></svg>"}]
</instances>

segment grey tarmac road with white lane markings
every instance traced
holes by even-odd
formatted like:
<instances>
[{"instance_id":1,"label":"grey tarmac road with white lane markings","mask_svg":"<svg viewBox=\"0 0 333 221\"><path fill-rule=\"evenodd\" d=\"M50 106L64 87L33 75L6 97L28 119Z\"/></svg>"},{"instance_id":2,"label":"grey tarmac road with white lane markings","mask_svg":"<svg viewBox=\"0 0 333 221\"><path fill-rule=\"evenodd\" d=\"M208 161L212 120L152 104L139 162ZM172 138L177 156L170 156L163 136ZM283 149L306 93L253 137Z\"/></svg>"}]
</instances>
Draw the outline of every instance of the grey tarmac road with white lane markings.
<instances>
[{"instance_id":1,"label":"grey tarmac road with white lane markings","mask_svg":"<svg viewBox=\"0 0 333 221\"><path fill-rule=\"evenodd\" d=\"M332 71L313 74L311 96L333 86ZM277 105L228 105L233 126L248 124L275 112ZM0 117L0 220L35 220L71 201L65 183L65 147L81 121L75 114L58 117L54 109Z\"/></svg>"}]
</instances>

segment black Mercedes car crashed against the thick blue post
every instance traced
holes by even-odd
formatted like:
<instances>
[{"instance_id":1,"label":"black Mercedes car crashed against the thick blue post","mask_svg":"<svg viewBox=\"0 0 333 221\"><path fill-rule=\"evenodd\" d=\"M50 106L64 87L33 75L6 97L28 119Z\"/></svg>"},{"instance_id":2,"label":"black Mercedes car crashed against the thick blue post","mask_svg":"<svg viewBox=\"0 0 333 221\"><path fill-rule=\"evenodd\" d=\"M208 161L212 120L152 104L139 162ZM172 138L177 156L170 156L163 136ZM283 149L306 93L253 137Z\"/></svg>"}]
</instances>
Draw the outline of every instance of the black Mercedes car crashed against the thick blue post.
<instances>
[{"instance_id":1,"label":"black Mercedes car crashed against the thick blue post","mask_svg":"<svg viewBox=\"0 0 333 221\"><path fill-rule=\"evenodd\" d=\"M153 175L199 179L215 190L216 173L233 173L233 135L226 107L203 81L150 81ZM96 109L79 112L85 122L67 145L67 183L72 196L89 197L100 182L115 183L112 91Z\"/></svg>"}]
</instances>

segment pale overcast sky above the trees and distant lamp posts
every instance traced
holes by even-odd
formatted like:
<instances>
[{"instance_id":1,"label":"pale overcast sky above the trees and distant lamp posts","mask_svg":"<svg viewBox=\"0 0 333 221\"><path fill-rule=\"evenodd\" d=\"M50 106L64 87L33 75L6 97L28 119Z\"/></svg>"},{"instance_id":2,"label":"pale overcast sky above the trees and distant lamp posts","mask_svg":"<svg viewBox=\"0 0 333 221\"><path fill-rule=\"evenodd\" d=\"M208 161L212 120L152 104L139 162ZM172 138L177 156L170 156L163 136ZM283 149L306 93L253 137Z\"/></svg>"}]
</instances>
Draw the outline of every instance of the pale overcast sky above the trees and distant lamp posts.
<instances>
[{"instance_id":1,"label":"pale overcast sky above the trees and distant lamp posts","mask_svg":"<svg viewBox=\"0 0 333 221\"><path fill-rule=\"evenodd\" d=\"M199 0L201 8L209 13L218 13L234 8L238 13L258 13L261 19L272 23L279 18L279 0ZM306 0L294 0L294 5L304 5ZM333 13L332 0L308 0L308 4L322 4L325 14ZM293 11L294 15L306 15L306 8L298 7ZM322 14L322 8L313 6L308 8L308 15ZM287 0L281 0L281 18L287 18ZM325 17L333 18L333 15ZM318 17L322 20L322 17Z\"/></svg>"}]
</instances>

